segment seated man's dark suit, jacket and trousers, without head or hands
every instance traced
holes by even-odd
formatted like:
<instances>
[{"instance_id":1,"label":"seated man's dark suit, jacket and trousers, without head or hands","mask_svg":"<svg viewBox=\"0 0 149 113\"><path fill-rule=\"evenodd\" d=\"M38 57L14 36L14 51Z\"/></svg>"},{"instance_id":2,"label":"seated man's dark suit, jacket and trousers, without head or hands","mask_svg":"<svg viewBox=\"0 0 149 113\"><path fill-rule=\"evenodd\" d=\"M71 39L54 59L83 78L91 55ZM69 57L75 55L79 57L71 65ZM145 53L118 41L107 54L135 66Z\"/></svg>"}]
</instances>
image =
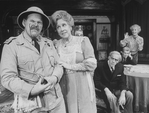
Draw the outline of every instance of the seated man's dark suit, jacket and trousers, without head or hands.
<instances>
[{"instance_id":1,"label":"seated man's dark suit, jacket and trousers, without head or hands","mask_svg":"<svg viewBox=\"0 0 149 113\"><path fill-rule=\"evenodd\" d=\"M123 64L117 63L115 70L112 72L107 61L103 64L98 64L95 70L95 87L98 90L101 90L100 93L97 92L97 95L105 101L109 110L108 113L111 112L111 107L104 91L105 88L108 88L117 98L119 98L122 90L126 90L126 104L124 105L124 113L132 113L133 94L126 89L126 76L124 75L123 71Z\"/></svg>"}]
</instances>

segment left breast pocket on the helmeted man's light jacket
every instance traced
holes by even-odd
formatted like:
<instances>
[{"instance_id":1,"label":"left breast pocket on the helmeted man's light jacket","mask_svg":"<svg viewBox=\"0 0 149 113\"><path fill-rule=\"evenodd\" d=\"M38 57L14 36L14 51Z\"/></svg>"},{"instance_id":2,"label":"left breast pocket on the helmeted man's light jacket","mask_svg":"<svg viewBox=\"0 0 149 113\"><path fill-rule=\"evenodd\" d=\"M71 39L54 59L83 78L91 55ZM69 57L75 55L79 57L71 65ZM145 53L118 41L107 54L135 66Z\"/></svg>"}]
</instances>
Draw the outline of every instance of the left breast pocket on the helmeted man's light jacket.
<instances>
[{"instance_id":1,"label":"left breast pocket on the helmeted man's light jacket","mask_svg":"<svg viewBox=\"0 0 149 113\"><path fill-rule=\"evenodd\" d=\"M22 71L34 71L34 60L31 55L18 56L18 68Z\"/></svg>"}]
</instances>

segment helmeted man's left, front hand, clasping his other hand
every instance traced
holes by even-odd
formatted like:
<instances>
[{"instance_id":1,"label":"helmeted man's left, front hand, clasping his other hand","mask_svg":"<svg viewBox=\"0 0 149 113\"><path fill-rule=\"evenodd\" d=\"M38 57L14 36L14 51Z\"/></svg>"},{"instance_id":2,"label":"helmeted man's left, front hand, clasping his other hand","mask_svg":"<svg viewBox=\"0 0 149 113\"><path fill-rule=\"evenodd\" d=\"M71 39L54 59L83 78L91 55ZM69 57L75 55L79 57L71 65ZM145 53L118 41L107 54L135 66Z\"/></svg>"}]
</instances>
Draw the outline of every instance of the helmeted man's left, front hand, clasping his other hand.
<instances>
[{"instance_id":1,"label":"helmeted man's left, front hand, clasping his other hand","mask_svg":"<svg viewBox=\"0 0 149 113\"><path fill-rule=\"evenodd\" d=\"M46 88L51 87L51 83L48 82L43 84L43 78L40 78L39 81L34 85L33 89L31 90L31 95L38 95L45 91Z\"/></svg>"}]
</instances>

